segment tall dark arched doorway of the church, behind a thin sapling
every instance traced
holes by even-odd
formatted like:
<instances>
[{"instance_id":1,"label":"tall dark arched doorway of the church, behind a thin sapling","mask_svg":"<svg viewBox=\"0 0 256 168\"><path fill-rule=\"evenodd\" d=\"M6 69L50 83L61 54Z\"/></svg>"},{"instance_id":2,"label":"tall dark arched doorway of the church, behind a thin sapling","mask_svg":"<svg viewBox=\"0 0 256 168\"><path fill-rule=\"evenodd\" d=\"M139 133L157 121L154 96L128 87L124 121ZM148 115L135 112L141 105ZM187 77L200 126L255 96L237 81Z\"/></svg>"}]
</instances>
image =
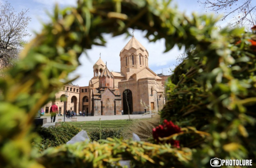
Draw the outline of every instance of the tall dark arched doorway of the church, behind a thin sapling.
<instances>
[{"instance_id":1,"label":"tall dark arched doorway of the church, behind a thin sapling","mask_svg":"<svg viewBox=\"0 0 256 168\"><path fill-rule=\"evenodd\" d=\"M124 114L132 114L132 93L130 89L126 89L123 92L123 110Z\"/></svg>"}]
</instances>

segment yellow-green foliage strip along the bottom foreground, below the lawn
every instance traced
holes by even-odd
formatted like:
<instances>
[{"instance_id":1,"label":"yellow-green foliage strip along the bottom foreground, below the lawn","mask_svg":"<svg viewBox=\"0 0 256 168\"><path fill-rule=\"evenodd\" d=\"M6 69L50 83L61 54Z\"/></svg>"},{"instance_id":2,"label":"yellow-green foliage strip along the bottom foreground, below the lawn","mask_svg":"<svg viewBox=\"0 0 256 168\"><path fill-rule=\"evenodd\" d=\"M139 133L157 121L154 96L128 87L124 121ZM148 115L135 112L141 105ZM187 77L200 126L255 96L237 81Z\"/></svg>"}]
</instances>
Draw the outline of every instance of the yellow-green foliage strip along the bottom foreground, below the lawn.
<instances>
[{"instance_id":1,"label":"yellow-green foliage strip along the bottom foreground, below the lawn","mask_svg":"<svg viewBox=\"0 0 256 168\"><path fill-rule=\"evenodd\" d=\"M37 161L46 168L121 168L118 161L131 160L131 168L182 167L191 160L191 150L169 145L111 139L81 142L45 150Z\"/></svg>"}]
</instances>

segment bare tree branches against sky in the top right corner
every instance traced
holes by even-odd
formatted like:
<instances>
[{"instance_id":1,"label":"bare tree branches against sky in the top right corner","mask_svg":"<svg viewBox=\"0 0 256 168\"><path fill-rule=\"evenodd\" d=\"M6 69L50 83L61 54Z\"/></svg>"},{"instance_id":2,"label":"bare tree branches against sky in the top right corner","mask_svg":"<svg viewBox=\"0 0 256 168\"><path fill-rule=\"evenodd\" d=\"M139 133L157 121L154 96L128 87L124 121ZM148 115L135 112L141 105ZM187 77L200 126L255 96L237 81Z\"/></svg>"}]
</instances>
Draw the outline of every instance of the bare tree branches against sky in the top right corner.
<instances>
[{"instance_id":1,"label":"bare tree branches against sky in the top right corner","mask_svg":"<svg viewBox=\"0 0 256 168\"><path fill-rule=\"evenodd\" d=\"M205 9L223 13L222 20L233 15L231 26L241 25L252 27L256 22L256 4L254 0L198 0L198 3L205 6Z\"/></svg>"}]
</instances>

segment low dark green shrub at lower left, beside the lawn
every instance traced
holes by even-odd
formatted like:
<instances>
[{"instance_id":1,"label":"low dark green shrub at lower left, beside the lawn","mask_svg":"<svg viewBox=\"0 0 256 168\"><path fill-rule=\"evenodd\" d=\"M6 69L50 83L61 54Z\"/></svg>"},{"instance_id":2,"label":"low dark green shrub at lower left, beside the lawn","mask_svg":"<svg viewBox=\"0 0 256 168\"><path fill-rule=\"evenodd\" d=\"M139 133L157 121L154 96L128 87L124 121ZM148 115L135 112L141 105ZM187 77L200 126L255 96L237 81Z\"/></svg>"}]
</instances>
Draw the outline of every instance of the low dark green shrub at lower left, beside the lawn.
<instances>
[{"instance_id":1,"label":"low dark green shrub at lower left, beside the lawn","mask_svg":"<svg viewBox=\"0 0 256 168\"><path fill-rule=\"evenodd\" d=\"M40 127L37 133L40 135L42 141L35 142L35 146L39 151L43 151L48 147L56 147L66 144L72 139L81 129L73 126L67 122L61 122L60 126Z\"/></svg>"}]
</instances>

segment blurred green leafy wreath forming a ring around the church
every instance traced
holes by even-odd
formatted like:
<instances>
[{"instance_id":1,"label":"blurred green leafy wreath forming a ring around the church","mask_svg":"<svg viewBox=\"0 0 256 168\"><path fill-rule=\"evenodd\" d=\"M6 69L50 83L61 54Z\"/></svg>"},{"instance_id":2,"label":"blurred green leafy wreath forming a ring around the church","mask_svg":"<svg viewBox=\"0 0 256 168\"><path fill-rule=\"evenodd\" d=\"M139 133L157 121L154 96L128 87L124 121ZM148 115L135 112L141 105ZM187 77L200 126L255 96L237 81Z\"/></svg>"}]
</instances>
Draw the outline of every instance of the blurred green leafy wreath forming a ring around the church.
<instances>
[{"instance_id":1,"label":"blurred green leafy wreath forming a ring around the church","mask_svg":"<svg viewBox=\"0 0 256 168\"><path fill-rule=\"evenodd\" d=\"M218 30L217 18L187 17L169 3L78 0L77 7L56 6L51 23L0 78L1 167L102 168L120 159L130 159L132 167L208 167L213 157L255 159L255 34L239 28ZM209 138L193 150L118 139L62 145L47 149L36 162L31 124L37 111L63 86L61 81L70 82L67 75L77 68L84 50L104 45L104 33L117 36L128 28L146 30L153 42L165 39L165 52L175 44L195 46L175 69L161 116L208 132Z\"/></svg>"}]
</instances>

